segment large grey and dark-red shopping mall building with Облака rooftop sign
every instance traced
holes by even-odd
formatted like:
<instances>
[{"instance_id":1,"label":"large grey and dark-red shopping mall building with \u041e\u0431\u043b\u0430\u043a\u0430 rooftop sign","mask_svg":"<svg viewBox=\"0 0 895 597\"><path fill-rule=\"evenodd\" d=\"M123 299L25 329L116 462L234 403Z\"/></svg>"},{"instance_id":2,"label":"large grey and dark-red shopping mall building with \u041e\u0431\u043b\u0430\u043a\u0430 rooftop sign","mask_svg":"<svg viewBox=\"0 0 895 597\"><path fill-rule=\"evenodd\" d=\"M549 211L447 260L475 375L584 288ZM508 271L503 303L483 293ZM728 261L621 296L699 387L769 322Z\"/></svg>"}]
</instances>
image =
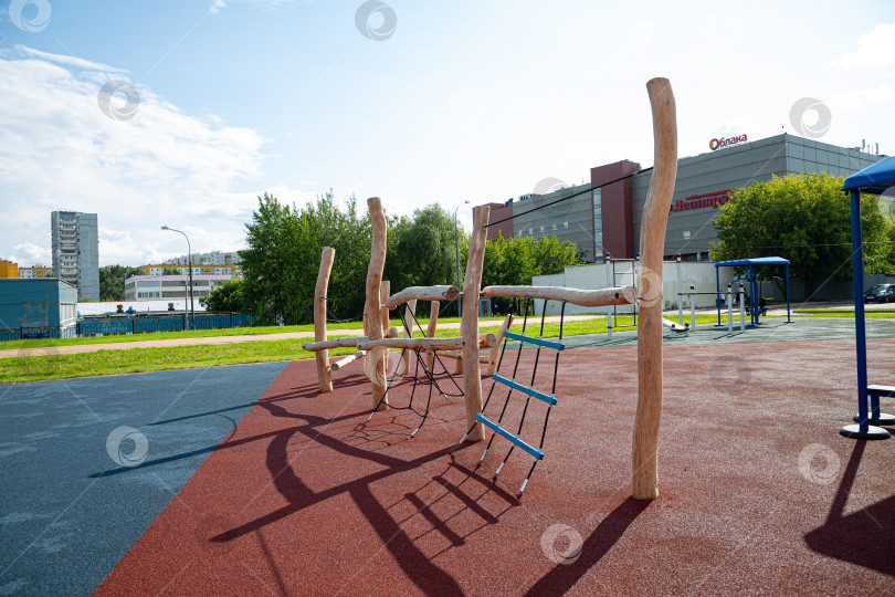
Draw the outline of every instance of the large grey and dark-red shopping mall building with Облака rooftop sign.
<instances>
[{"instance_id":1,"label":"large grey and dark-red shopping mall building with \u041e\u0431\u043b\u0430\u043a\u0430 rooftop sign","mask_svg":"<svg viewBox=\"0 0 895 597\"><path fill-rule=\"evenodd\" d=\"M728 195L731 189L775 175L847 177L885 157L787 134L754 142L745 135L713 139L709 147L713 150L677 161L665 259L680 254L684 261L708 260L709 243L717 241L712 220L725 202L735 200ZM626 178L598 188L622 177ZM652 170L625 159L591 168L590 185L491 203L491 221L506 221L488 227L488 239L498 232L505 238L556 235L560 242L573 242L588 262L602 261L607 253L613 259L634 259L651 177ZM533 211L570 196L575 197Z\"/></svg>"}]
</instances>

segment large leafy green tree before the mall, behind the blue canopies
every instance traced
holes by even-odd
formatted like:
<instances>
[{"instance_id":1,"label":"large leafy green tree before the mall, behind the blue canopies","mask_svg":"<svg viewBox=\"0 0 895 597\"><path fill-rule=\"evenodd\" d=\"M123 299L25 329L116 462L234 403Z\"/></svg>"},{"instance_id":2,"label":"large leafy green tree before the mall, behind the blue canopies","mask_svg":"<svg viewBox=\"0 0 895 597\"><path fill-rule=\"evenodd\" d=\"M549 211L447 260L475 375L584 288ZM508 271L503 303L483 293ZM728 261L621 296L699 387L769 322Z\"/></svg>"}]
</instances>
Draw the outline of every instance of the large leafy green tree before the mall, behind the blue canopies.
<instances>
[{"instance_id":1,"label":"large leafy green tree before the mall, behind the blue canopies","mask_svg":"<svg viewBox=\"0 0 895 597\"><path fill-rule=\"evenodd\" d=\"M712 222L718 242L709 247L714 261L782 256L811 295L828 277L852 276L851 217L842 177L798 175L773 177L733 191L735 201L722 207ZM864 271L882 272L889 252L887 224L880 200L861 197ZM781 272L776 272L782 275Z\"/></svg>"}]
</instances>

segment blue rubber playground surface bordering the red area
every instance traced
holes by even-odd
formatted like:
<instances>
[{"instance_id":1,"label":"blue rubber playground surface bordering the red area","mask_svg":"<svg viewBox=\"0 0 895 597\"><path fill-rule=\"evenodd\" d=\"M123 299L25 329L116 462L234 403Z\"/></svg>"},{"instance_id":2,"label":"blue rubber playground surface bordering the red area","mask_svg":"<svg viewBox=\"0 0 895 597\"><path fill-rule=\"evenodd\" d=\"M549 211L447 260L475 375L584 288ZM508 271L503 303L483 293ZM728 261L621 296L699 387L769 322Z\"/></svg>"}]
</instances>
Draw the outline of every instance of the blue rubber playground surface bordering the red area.
<instances>
[{"instance_id":1,"label":"blue rubber playground surface bordering the red area","mask_svg":"<svg viewBox=\"0 0 895 597\"><path fill-rule=\"evenodd\" d=\"M285 366L0 386L0 595L92 593Z\"/></svg>"}]
</instances>

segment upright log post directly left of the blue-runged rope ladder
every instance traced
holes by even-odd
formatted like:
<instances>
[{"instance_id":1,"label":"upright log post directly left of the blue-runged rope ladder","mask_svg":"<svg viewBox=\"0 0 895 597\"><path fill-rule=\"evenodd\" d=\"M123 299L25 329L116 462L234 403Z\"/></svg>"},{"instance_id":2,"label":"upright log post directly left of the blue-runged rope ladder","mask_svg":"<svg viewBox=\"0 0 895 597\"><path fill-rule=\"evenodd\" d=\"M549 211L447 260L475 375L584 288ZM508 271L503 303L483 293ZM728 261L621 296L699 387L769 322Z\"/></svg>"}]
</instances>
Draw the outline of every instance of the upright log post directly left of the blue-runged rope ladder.
<instances>
[{"instance_id":1,"label":"upright log post directly left of the blue-runged rope ladder","mask_svg":"<svg viewBox=\"0 0 895 597\"><path fill-rule=\"evenodd\" d=\"M463 279L463 318L460 336L468 339L463 344L463 392L466 401L466 439L485 439L484 426L475 420L482 412L482 374L478 364L478 293L482 289L482 269L485 261L485 224L488 223L487 206L473 208L473 228L470 238L470 254L466 260L466 276Z\"/></svg>"}]
</instances>

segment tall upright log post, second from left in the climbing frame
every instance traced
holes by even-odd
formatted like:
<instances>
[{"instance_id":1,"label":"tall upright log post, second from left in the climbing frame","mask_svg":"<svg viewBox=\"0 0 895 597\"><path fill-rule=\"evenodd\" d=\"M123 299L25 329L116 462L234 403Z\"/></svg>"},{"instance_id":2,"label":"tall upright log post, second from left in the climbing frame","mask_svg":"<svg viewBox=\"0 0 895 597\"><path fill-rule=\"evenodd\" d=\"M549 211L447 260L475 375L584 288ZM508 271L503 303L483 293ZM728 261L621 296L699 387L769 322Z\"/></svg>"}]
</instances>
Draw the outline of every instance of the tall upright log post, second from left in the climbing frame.
<instances>
[{"instance_id":1,"label":"tall upright log post, second from left in the climbing frame","mask_svg":"<svg viewBox=\"0 0 895 597\"><path fill-rule=\"evenodd\" d=\"M380 286L382 284L382 270L386 268L386 248L388 228L386 216L382 213L382 201L379 197L367 199L367 208L370 211L370 222L372 224L372 247L370 249L370 265L367 269L367 327L368 336L371 341L382 339L382 316ZM361 348L362 350L362 348ZM386 396L386 359L388 349L373 348L368 352L366 359L372 362L372 408L385 410L388 408L388 396Z\"/></svg>"}]
</instances>

